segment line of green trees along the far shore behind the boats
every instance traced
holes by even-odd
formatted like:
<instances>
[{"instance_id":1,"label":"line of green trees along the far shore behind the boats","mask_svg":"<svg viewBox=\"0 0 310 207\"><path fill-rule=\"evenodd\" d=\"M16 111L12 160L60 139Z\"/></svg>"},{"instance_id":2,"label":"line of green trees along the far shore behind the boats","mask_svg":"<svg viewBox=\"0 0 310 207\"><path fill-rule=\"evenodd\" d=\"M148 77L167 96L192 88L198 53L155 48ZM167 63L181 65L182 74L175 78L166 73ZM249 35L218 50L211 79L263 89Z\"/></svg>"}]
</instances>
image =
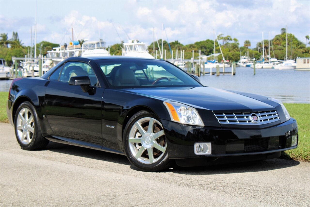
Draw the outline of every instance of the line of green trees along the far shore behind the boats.
<instances>
[{"instance_id":1,"label":"line of green trees along the far shore behind the boats","mask_svg":"<svg viewBox=\"0 0 310 207\"><path fill-rule=\"evenodd\" d=\"M287 34L287 48L288 48L288 58L289 59L296 59L296 57L309 57L310 56L310 42L309 36L306 35L306 43L301 42L298 40L294 34ZM0 34L0 58L3 58L8 65L12 64L12 56L15 57L24 57L29 51L34 54L34 47L26 47L19 39L17 32L13 32L12 38L9 39L8 35L5 33ZM251 58L261 59L263 51L265 52L265 57L268 54L268 40L264 40L263 43L259 42L253 47L250 48L251 42L250 40L245 40L243 45L241 46L239 40L237 38L232 38L229 35L219 34L217 39L220 43L215 42L215 52L220 53L219 47L223 52L223 56L225 60L229 60L231 62L238 61L240 59L240 54L242 56L249 55ZM84 40L79 40L80 45ZM162 44L162 39L158 40L159 45ZM180 58L180 51L184 50L184 59L190 59L193 56L194 50L194 57L197 58L199 56L199 50L201 51L201 55L210 55L214 53L214 40L206 39L199 42L191 43L184 45L180 43L178 40L170 42L170 48L173 50L173 58L175 59L176 50L178 50L178 58ZM307 47L307 45L309 46ZM163 40L163 50L166 50L166 59L171 59L170 48L168 42ZM37 43L37 54L46 55L47 51L52 50L53 47L58 47L59 44L50 43L47 41L42 41ZM111 46L110 54L111 55L122 55L122 47L123 42L116 43ZM151 55L156 54L156 50L158 51L157 58L159 56L159 48L157 45L157 41L155 42L155 50L153 51L153 43L148 46L148 52ZM217 58L219 61L223 59L222 55L219 55ZM277 34L274 38L270 41L270 57L277 58L279 60L283 60L286 56L286 29L282 28L281 33ZM163 54L164 58L164 54Z\"/></svg>"}]
</instances>

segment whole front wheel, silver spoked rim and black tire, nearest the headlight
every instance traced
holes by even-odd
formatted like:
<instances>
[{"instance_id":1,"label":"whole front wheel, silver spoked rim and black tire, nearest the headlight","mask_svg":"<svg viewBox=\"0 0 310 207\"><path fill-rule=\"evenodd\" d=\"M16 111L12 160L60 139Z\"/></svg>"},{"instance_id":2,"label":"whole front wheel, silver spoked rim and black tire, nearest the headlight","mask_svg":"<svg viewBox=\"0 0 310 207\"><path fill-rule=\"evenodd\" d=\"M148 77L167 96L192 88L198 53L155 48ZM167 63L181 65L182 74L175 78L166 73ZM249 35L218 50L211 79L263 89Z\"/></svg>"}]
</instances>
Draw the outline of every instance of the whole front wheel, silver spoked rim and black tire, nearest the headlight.
<instances>
[{"instance_id":1,"label":"whole front wheel, silver spoked rim and black tire, nearest the headlight","mask_svg":"<svg viewBox=\"0 0 310 207\"><path fill-rule=\"evenodd\" d=\"M124 148L129 161L143 171L170 166L162 124L147 111L139 111L125 128Z\"/></svg>"}]
</instances>

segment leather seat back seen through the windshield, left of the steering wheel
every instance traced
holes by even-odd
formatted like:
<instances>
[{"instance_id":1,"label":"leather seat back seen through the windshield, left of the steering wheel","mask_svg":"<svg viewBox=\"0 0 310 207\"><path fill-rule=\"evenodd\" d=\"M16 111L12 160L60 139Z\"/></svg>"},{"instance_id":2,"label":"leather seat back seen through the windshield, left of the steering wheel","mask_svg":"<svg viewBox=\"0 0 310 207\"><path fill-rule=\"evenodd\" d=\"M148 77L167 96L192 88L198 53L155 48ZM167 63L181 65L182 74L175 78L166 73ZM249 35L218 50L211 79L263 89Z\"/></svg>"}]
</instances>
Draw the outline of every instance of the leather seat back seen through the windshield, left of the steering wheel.
<instances>
[{"instance_id":1,"label":"leather seat back seen through the windshield, left of the steering wheel","mask_svg":"<svg viewBox=\"0 0 310 207\"><path fill-rule=\"evenodd\" d=\"M120 68L115 74L113 86L139 86L139 81L135 77L133 70L129 68Z\"/></svg>"}]
</instances>

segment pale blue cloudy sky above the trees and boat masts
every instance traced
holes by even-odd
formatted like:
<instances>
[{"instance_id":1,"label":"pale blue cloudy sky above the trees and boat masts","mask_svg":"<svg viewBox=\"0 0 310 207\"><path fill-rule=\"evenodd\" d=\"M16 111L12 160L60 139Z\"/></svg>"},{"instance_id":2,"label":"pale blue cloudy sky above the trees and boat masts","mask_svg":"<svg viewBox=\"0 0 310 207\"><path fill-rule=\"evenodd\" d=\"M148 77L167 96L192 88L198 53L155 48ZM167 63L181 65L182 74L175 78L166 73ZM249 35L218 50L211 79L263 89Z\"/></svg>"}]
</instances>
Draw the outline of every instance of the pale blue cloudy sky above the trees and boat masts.
<instances>
[{"instance_id":1,"label":"pale blue cloudy sky above the trees and boat masts","mask_svg":"<svg viewBox=\"0 0 310 207\"><path fill-rule=\"evenodd\" d=\"M0 0L0 33L11 38L17 31L24 45L30 45L35 4L30 0ZM213 39L215 29L217 34L237 38L241 45L249 39L255 47L262 32L264 39L268 39L268 31L273 38L286 25L289 33L305 42L305 35L310 34L310 1L38 0L37 42L69 43L73 26L75 40L102 38L107 45L119 43L111 20L124 41L126 32L131 39L150 44L153 27L160 39L163 23L169 42L189 44Z\"/></svg>"}]
</instances>

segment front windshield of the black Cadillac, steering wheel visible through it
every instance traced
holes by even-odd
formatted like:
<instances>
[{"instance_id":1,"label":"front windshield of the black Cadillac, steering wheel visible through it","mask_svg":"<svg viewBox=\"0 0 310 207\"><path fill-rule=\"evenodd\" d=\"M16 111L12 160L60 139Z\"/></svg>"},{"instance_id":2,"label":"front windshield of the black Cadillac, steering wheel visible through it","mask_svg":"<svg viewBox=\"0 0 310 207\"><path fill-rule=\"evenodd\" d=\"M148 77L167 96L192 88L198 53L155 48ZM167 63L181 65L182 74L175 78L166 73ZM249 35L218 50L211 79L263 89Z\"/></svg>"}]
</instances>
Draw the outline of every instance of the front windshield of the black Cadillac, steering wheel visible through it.
<instances>
[{"instance_id":1,"label":"front windshield of the black Cadillac, steering wheel visible through it","mask_svg":"<svg viewBox=\"0 0 310 207\"><path fill-rule=\"evenodd\" d=\"M95 62L111 88L202 86L186 72L162 60L105 59Z\"/></svg>"}]
</instances>

